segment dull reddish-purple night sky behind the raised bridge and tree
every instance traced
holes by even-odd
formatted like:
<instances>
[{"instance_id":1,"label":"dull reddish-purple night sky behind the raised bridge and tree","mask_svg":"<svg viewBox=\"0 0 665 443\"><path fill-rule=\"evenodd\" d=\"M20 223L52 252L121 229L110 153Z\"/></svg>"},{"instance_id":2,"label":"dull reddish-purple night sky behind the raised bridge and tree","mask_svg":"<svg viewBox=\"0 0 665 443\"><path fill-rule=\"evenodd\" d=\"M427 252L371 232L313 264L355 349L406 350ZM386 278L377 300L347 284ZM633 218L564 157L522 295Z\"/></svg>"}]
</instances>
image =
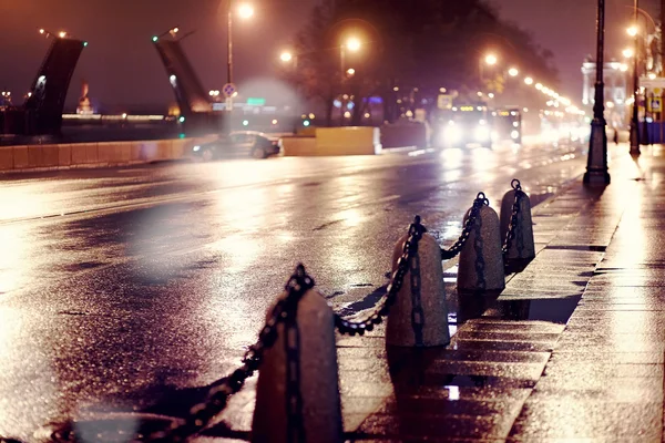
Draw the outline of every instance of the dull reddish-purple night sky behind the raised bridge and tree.
<instances>
[{"instance_id":1,"label":"dull reddish-purple night sky behind the raised bridge and tree","mask_svg":"<svg viewBox=\"0 0 665 443\"><path fill-rule=\"evenodd\" d=\"M463 1L463 0L460 0ZM277 55L307 20L316 0L253 0L255 17L235 21L235 79L245 95L278 100L285 91L272 80ZM580 65L595 53L595 0L492 0L502 18L531 31L554 52L562 90L581 96ZM633 0L606 0L606 56L620 58ZM658 19L659 0L641 7ZM177 25L196 30L184 42L204 87L226 79L226 27L221 0L0 0L0 89L27 92L48 48L39 28L66 30L90 42L79 62L68 102L90 83L94 103L164 105L174 101L150 39Z\"/></svg>"}]
</instances>

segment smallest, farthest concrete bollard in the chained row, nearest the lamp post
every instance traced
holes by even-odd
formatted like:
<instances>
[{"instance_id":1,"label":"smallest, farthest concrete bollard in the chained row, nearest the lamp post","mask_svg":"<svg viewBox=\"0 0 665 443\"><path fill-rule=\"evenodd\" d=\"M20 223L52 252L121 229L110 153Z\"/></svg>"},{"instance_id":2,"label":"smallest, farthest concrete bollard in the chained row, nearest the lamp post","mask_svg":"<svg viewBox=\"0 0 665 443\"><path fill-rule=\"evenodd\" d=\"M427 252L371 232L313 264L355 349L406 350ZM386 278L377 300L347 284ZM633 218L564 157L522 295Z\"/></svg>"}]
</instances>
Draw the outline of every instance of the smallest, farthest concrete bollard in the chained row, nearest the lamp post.
<instances>
[{"instance_id":1,"label":"smallest, farthest concrete bollard in the chained row, nearest the lamp post","mask_svg":"<svg viewBox=\"0 0 665 443\"><path fill-rule=\"evenodd\" d=\"M501 239L504 245L507 265L520 268L535 258L531 200L522 190L519 179L513 179L511 186L512 189L505 193L501 200ZM515 194L519 197L516 207L514 207ZM511 226L512 224L514 227ZM513 235L509 239L508 234L511 228Z\"/></svg>"}]
</instances>

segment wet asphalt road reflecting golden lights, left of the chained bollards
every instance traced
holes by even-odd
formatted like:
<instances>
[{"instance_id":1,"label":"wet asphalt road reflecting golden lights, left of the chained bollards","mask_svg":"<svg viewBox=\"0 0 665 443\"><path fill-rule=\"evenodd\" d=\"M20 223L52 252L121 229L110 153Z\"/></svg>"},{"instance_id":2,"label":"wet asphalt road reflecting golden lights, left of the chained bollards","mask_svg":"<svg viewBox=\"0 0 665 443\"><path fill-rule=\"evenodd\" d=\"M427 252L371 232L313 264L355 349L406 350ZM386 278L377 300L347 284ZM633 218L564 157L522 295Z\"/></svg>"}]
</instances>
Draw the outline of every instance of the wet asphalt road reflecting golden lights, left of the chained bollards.
<instances>
[{"instance_id":1,"label":"wet asphalt road reflecting golden lights, left of the chained bollards","mask_svg":"<svg viewBox=\"0 0 665 443\"><path fill-rule=\"evenodd\" d=\"M4 176L0 435L142 410L235 368L298 261L336 309L386 284L415 214L450 245L479 190L534 203L580 146L239 159Z\"/></svg>"}]
</instances>

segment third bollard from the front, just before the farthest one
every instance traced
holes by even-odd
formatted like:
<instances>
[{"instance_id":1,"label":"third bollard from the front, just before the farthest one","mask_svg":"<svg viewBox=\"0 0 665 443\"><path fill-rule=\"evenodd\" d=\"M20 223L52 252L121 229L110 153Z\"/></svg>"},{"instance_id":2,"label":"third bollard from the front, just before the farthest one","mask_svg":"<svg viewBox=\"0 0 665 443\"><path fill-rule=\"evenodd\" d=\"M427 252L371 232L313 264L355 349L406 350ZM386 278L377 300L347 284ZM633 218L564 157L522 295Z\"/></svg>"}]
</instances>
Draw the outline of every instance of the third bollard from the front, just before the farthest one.
<instances>
[{"instance_id":1,"label":"third bollard from the front, just before the farthest one","mask_svg":"<svg viewBox=\"0 0 665 443\"><path fill-rule=\"evenodd\" d=\"M503 254L499 231L499 216L489 206L483 193L478 195L483 204L471 224L469 238L460 251L458 291L491 292L505 288ZM473 208L467 212L464 223Z\"/></svg>"}]
</instances>

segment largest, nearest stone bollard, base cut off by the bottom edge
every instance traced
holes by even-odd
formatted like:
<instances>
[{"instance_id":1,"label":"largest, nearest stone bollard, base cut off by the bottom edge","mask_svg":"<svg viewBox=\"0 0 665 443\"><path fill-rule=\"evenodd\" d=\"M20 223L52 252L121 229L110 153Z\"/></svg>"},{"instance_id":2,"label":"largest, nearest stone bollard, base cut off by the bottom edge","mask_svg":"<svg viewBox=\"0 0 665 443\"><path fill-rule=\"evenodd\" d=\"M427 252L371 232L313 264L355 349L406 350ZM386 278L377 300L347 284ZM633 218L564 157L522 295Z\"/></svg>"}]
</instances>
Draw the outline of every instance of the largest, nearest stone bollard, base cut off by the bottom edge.
<instances>
[{"instance_id":1,"label":"largest, nearest stone bollard, base cut off by the bottom edge","mask_svg":"<svg viewBox=\"0 0 665 443\"><path fill-rule=\"evenodd\" d=\"M310 289L296 316L277 324L277 340L264 353L252 442L342 441L334 313Z\"/></svg>"}]
</instances>

